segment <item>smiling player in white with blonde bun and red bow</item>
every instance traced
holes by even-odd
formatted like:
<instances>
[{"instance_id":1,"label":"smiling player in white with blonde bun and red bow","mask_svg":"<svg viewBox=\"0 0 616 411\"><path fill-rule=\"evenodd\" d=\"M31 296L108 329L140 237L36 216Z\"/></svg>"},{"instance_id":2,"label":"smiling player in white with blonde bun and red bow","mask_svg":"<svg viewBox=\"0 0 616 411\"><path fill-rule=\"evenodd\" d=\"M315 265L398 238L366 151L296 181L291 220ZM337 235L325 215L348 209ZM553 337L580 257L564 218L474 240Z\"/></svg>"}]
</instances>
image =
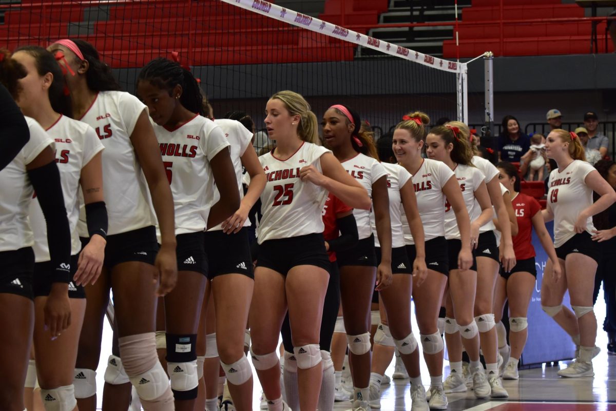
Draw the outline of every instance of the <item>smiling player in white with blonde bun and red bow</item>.
<instances>
[{"instance_id":1,"label":"smiling player in white with blonde bun and red bow","mask_svg":"<svg viewBox=\"0 0 616 411\"><path fill-rule=\"evenodd\" d=\"M458 252L457 266L460 269L471 267L472 252L468 211L464 206L464 199L455 174L443 162L421 157L426 143L425 126L429 122L430 119L425 113L408 114L396 126L392 142L395 158L400 166L405 167L413 175L419 217L424 228L428 275L421 289L415 287L413 301L424 359L431 376L429 405L435 409L444 409L448 404L442 383L444 343L437 326L437 317L449 276L449 257L444 224L446 201L451 204L461 239L464 239L463 247L460 247ZM416 252L415 242L404 215L402 215L402 228L407 253L413 255ZM448 325L450 329L453 326L453 324ZM411 384L411 397L418 404L426 401L426 391L420 381ZM425 409L425 406L423 408Z\"/></svg>"}]
</instances>

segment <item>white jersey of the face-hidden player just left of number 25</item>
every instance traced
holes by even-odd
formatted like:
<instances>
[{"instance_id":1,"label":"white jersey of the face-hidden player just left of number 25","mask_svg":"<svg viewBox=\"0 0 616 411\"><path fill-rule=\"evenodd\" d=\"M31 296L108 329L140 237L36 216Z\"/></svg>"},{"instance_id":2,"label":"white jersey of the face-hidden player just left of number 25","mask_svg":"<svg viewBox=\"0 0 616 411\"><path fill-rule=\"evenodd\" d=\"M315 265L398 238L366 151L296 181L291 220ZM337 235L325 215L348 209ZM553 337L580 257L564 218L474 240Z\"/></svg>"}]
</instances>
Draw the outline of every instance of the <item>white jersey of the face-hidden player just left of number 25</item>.
<instances>
[{"instance_id":1,"label":"white jersey of the face-hidden player just left of number 25","mask_svg":"<svg viewBox=\"0 0 616 411\"><path fill-rule=\"evenodd\" d=\"M230 144L229 150L231 151L231 161L233 162L233 169L235 169L235 178L237 180L237 189L240 191L240 201L244 198L244 188L242 187L241 179L243 177L244 167L241 165L241 156L246 152L246 148L251 145L253 140L253 134L249 132L246 127L242 126L241 122L229 119L214 120L216 126L221 127L224 132L227 141ZM221 198L221 194L214 187L214 199L212 205L216 204ZM250 226L249 218L243 225L244 227ZM208 231L214 231L222 229L222 223L210 228Z\"/></svg>"}]
</instances>

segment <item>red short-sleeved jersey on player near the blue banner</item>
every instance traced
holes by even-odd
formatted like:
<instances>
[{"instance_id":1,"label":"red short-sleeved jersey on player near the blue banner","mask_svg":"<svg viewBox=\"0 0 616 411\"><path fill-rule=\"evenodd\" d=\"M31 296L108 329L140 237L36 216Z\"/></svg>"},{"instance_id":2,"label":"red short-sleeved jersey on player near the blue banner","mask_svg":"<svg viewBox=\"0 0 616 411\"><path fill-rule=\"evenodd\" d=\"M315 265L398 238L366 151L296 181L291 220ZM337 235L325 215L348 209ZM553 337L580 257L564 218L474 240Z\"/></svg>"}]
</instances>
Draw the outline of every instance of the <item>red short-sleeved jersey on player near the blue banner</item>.
<instances>
[{"instance_id":1,"label":"red short-sleeved jersey on player near the blue banner","mask_svg":"<svg viewBox=\"0 0 616 411\"><path fill-rule=\"evenodd\" d=\"M517 217L517 236L513 237L513 251L517 260L527 260L535 257L532 218L541 211L541 206L537 200L522 193L517 193L511 200L511 205Z\"/></svg>"}]
</instances>

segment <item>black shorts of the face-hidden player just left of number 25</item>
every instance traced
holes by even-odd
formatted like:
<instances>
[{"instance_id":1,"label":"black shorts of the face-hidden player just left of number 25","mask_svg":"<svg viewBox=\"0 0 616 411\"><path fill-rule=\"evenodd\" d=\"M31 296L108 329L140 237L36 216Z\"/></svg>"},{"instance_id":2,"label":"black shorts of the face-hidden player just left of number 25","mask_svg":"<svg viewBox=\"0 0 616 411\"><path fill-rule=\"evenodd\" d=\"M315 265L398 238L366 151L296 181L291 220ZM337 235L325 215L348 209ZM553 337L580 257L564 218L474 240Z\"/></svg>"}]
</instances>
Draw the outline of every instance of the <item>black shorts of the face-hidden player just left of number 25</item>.
<instances>
[{"instance_id":1,"label":"black shorts of the face-hidden player just left of number 25","mask_svg":"<svg viewBox=\"0 0 616 411\"><path fill-rule=\"evenodd\" d=\"M253 258L246 227L237 234L225 234L220 229L206 231L205 252L208 254L209 279L224 274L244 274L254 279Z\"/></svg>"}]
</instances>

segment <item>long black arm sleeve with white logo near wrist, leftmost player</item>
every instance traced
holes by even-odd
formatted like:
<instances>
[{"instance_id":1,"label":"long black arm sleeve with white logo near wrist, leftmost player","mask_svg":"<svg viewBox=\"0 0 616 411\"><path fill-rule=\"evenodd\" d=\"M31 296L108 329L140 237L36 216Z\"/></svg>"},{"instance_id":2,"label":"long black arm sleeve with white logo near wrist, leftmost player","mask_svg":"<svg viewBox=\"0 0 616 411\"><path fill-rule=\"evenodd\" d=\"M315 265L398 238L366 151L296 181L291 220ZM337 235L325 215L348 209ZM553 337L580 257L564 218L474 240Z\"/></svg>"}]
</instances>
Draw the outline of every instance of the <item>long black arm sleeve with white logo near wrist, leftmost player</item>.
<instances>
[{"instance_id":1,"label":"long black arm sleeve with white logo near wrist, leftmost player","mask_svg":"<svg viewBox=\"0 0 616 411\"><path fill-rule=\"evenodd\" d=\"M38 169L28 170L36 198L38 198L45 223L47 242L54 272L52 282L71 281L71 232L68 227L67 210L64 207L60 172L55 161Z\"/></svg>"}]
</instances>

